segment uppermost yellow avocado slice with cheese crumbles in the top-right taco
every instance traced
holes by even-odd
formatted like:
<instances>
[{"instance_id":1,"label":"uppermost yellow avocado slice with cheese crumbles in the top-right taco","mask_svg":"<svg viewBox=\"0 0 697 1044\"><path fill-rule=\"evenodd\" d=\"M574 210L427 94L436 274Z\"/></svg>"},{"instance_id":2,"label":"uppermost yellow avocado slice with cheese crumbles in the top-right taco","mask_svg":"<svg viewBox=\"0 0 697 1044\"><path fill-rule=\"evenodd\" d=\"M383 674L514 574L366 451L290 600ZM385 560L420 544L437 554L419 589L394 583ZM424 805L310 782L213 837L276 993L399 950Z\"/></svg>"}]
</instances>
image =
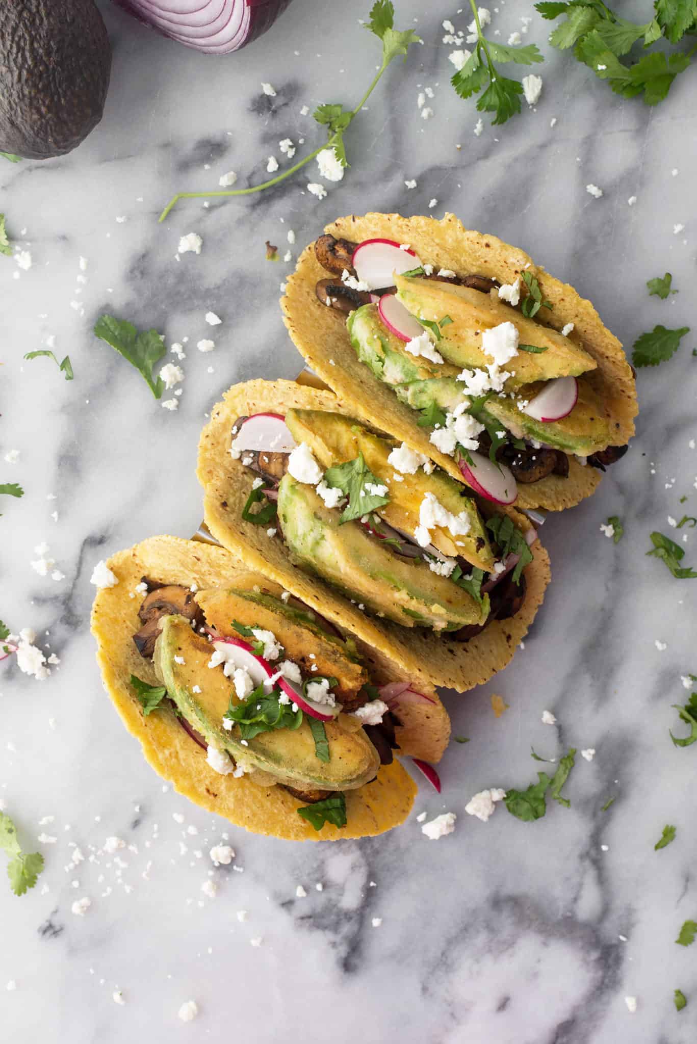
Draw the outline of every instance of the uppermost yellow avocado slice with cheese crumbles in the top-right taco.
<instances>
[{"instance_id":1,"label":"uppermost yellow avocado slice with cheese crumbles in the top-right taco","mask_svg":"<svg viewBox=\"0 0 697 1044\"><path fill-rule=\"evenodd\" d=\"M511 386L549 381L553 377L576 377L597 369L595 359L567 337L481 290L397 275L395 285L398 300L418 318L440 323L449 315L452 322L442 328L437 349L447 362L460 369L484 369L492 362L491 356L482 350L482 331L501 323L515 325L521 345L545 349L539 353L519 351L502 367L513 375Z\"/></svg>"}]
</instances>

